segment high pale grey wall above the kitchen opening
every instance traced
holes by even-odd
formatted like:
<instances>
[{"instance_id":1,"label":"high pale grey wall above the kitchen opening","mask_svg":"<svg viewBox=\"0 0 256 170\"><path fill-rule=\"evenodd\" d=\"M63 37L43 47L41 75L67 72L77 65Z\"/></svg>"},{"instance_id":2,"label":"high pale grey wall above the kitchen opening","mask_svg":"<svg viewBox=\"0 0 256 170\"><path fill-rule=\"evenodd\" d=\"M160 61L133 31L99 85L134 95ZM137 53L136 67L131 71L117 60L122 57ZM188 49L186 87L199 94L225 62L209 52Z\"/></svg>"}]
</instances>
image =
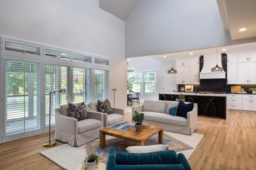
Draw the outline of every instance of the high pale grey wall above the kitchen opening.
<instances>
[{"instance_id":1,"label":"high pale grey wall above the kitchen opening","mask_svg":"<svg viewBox=\"0 0 256 170\"><path fill-rule=\"evenodd\" d=\"M235 43L216 0L140 0L125 21L126 58Z\"/></svg>"}]
</instances>

